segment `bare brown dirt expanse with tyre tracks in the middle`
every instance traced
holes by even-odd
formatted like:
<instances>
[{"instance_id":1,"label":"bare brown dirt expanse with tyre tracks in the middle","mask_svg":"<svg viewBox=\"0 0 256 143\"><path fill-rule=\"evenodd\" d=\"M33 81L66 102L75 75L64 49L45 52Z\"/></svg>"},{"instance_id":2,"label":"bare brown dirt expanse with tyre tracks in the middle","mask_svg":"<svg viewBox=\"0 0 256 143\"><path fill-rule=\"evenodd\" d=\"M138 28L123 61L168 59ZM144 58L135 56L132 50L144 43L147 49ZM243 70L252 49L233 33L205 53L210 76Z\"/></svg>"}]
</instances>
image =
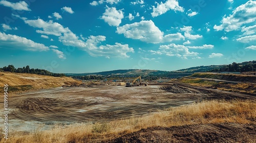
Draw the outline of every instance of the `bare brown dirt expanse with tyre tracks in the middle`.
<instances>
[{"instance_id":1,"label":"bare brown dirt expanse with tyre tracks in the middle","mask_svg":"<svg viewBox=\"0 0 256 143\"><path fill-rule=\"evenodd\" d=\"M8 118L13 127L11 129L29 131L29 127L34 127L36 123L104 122L203 100L234 98L255 99L247 94L178 83L139 87L102 85L54 88L10 96Z\"/></svg>"}]
</instances>

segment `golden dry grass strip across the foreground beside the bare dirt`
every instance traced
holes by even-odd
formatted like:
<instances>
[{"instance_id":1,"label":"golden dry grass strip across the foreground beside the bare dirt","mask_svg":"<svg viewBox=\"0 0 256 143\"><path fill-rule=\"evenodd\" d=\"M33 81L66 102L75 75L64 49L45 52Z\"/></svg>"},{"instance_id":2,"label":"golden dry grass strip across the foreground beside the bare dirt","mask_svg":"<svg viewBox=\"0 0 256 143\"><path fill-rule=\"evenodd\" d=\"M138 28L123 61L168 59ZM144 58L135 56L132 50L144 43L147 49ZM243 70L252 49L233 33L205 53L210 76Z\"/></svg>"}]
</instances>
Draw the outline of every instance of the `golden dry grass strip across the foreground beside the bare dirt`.
<instances>
[{"instance_id":1,"label":"golden dry grass strip across the foreground beside the bare dirt","mask_svg":"<svg viewBox=\"0 0 256 143\"><path fill-rule=\"evenodd\" d=\"M204 101L191 105L169 108L143 117L120 119L108 123L83 123L54 126L23 134L11 132L10 138L0 142L97 142L118 137L147 127L171 127L210 123L255 123L255 101Z\"/></svg>"}]
</instances>

